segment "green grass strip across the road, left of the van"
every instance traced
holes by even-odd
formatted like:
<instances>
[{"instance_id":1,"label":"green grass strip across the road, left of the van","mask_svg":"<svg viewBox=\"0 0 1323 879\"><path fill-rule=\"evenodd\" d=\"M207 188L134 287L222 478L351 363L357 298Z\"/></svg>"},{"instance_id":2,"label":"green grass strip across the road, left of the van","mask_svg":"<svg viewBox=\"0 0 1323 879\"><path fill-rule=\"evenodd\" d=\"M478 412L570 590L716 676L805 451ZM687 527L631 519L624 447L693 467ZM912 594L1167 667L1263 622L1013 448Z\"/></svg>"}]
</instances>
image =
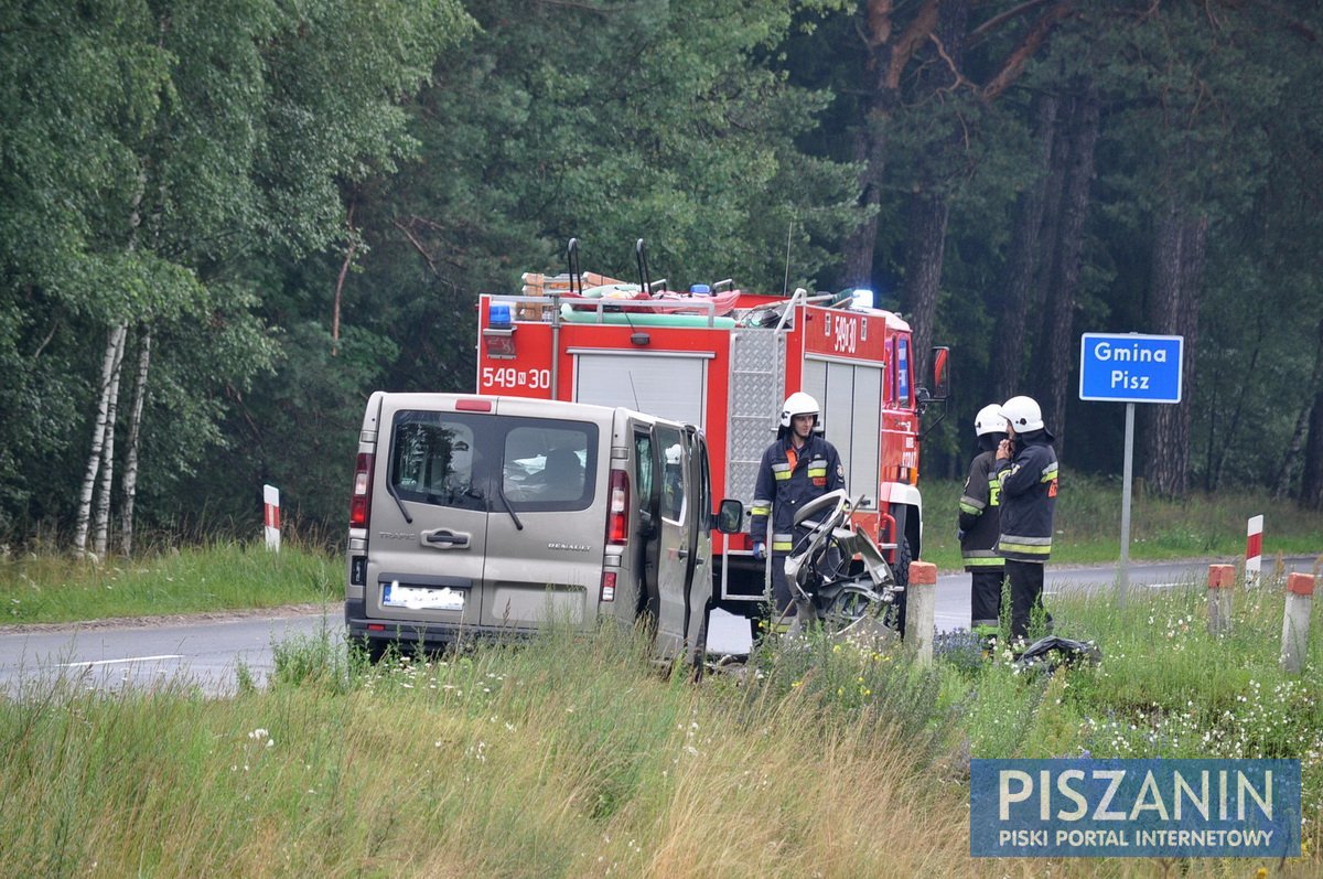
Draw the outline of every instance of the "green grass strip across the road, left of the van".
<instances>
[{"instance_id":1,"label":"green grass strip across the road, left of the van","mask_svg":"<svg viewBox=\"0 0 1323 879\"><path fill-rule=\"evenodd\" d=\"M339 600L337 556L286 541L217 541L97 565L58 553L0 556L0 625L274 608Z\"/></svg>"}]
</instances>

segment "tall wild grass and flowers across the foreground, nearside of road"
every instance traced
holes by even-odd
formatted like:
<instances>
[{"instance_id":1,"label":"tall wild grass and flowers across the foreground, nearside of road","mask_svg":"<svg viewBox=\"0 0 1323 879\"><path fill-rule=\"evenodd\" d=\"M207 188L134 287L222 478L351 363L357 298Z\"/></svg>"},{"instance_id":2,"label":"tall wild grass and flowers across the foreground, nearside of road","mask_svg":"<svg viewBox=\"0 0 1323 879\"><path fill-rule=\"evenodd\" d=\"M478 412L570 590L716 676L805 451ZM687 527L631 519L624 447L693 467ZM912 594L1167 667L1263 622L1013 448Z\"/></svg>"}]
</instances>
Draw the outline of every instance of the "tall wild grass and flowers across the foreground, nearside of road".
<instances>
[{"instance_id":1,"label":"tall wild grass and flowers across the foreground, nearside of road","mask_svg":"<svg viewBox=\"0 0 1323 879\"><path fill-rule=\"evenodd\" d=\"M1060 600L1097 667L827 641L759 649L701 686L614 626L369 666L332 635L279 645L266 690L187 682L0 702L7 875L1315 876L1323 692L1278 670L1282 600L1196 585ZM970 757L1294 757L1304 855L972 860Z\"/></svg>"}]
</instances>

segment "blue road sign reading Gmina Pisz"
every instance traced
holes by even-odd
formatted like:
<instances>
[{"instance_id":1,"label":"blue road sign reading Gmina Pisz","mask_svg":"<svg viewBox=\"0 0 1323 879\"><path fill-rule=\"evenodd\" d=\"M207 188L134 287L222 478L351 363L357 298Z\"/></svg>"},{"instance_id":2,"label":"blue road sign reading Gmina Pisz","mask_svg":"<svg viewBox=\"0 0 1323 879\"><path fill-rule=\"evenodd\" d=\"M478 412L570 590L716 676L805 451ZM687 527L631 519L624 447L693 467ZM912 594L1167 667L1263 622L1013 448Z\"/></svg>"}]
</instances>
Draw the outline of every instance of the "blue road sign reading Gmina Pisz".
<instances>
[{"instance_id":1,"label":"blue road sign reading Gmina Pisz","mask_svg":"<svg viewBox=\"0 0 1323 879\"><path fill-rule=\"evenodd\" d=\"M1080 338L1080 398L1180 402L1184 336L1086 332Z\"/></svg>"}]
</instances>

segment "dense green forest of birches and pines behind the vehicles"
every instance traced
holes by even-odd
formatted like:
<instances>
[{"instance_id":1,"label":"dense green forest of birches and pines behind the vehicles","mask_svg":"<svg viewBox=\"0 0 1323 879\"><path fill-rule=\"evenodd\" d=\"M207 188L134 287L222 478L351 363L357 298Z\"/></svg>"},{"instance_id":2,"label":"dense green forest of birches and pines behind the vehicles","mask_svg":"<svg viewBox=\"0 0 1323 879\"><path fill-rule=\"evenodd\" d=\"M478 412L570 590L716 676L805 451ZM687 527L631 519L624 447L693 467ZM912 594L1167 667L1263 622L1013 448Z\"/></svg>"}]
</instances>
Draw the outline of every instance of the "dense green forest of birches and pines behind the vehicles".
<instances>
[{"instance_id":1,"label":"dense green forest of birches and pines behind the vehicles","mask_svg":"<svg viewBox=\"0 0 1323 879\"><path fill-rule=\"evenodd\" d=\"M336 531L374 389L585 265L867 286L953 348L955 475L1033 394L1121 469L1082 332L1185 338L1136 471L1323 508L1312 0L20 0L0 9L0 540ZM246 526L245 526L246 527Z\"/></svg>"}]
</instances>

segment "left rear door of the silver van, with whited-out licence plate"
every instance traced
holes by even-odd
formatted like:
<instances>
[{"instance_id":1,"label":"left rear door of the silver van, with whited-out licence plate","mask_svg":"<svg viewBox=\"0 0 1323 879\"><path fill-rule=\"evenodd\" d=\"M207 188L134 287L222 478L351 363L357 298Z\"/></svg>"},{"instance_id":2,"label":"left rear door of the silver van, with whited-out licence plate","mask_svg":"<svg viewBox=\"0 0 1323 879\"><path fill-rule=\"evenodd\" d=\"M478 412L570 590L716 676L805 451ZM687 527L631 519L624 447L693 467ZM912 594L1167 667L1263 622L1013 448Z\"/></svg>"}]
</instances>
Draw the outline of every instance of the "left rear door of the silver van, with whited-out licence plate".
<instances>
[{"instance_id":1,"label":"left rear door of the silver van, with whited-out licence plate","mask_svg":"<svg viewBox=\"0 0 1323 879\"><path fill-rule=\"evenodd\" d=\"M496 420L438 406L431 394L388 394L373 482L368 617L476 624L487 555L482 450Z\"/></svg>"}]
</instances>

